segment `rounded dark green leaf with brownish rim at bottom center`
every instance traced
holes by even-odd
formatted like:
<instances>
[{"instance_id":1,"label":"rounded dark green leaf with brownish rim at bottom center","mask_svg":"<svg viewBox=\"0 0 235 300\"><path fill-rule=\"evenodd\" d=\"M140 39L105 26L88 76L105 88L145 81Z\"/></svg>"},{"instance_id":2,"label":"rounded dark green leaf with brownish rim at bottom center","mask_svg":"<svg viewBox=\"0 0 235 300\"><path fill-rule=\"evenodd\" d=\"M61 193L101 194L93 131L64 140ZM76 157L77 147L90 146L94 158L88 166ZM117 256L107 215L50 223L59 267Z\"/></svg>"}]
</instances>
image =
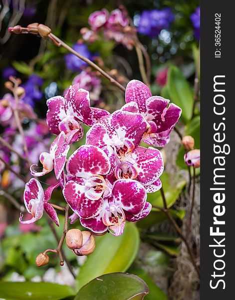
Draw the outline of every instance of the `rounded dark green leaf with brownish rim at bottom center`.
<instances>
[{"instance_id":1,"label":"rounded dark green leaf with brownish rim at bottom center","mask_svg":"<svg viewBox=\"0 0 235 300\"><path fill-rule=\"evenodd\" d=\"M141 300L148 292L148 286L141 278L118 272L91 280L78 291L74 300Z\"/></svg>"}]
</instances>

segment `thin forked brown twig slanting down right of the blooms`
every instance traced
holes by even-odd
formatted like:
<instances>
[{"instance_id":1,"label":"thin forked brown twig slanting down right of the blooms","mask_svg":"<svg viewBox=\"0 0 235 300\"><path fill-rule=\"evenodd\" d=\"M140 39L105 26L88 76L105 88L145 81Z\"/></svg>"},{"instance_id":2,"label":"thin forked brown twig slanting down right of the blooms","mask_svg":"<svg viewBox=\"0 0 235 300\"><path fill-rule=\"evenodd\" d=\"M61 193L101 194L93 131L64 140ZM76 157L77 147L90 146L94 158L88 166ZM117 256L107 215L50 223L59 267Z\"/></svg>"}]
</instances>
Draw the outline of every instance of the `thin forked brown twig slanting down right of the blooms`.
<instances>
[{"instance_id":1,"label":"thin forked brown twig slanting down right of the blooms","mask_svg":"<svg viewBox=\"0 0 235 300\"><path fill-rule=\"evenodd\" d=\"M160 209L161 211L163 211L166 216L168 217L168 219L170 220L170 222L172 223L173 227L176 229L176 231L178 232L179 236L181 237L181 239L184 241L187 249L188 249L188 252L189 252L189 255L191 257L191 261L198 273L198 276L200 277L200 268L198 267L196 261L195 261L195 255L193 253L193 250L191 249L190 247L190 244L189 242L187 241L186 237L183 235L180 227L178 226L177 222L175 221L174 217L171 215L171 213L169 212L168 210L168 207L167 207L167 201L166 201L166 197L165 197L165 194L164 194L164 190L163 188L160 189L161 190L161 195L162 195L162 199L163 199L163 204L164 204L164 207L159 207L159 206L155 206L155 205L152 205L154 208L158 208Z\"/></svg>"}]
</instances>

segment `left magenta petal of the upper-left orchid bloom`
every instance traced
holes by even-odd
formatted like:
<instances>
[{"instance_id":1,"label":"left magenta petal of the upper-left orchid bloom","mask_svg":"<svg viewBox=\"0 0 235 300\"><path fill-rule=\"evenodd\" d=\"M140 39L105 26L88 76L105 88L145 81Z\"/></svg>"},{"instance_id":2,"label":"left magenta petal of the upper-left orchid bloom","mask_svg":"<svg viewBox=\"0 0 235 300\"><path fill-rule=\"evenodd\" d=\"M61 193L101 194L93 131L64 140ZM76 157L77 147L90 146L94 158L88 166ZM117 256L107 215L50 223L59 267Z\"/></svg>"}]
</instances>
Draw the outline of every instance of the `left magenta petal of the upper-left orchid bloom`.
<instances>
[{"instance_id":1,"label":"left magenta petal of the upper-left orchid bloom","mask_svg":"<svg viewBox=\"0 0 235 300\"><path fill-rule=\"evenodd\" d=\"M53 134L59 134L60 130L58 128L59 122L66 117L64 110L64 97L55 96L46 101L48 110L46 113L46 121L49 130Z\"/></svg>"}]
</instances>

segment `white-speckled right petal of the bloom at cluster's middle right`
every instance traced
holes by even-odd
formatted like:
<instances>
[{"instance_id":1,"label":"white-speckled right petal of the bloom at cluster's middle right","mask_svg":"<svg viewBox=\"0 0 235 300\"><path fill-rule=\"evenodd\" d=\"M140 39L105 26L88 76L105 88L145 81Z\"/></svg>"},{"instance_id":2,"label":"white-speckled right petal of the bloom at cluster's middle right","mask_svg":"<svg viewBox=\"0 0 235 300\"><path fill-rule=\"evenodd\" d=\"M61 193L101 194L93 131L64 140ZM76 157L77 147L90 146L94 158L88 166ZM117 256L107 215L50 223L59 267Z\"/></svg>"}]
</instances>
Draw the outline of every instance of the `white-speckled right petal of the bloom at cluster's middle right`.
<instances>
[{"instance_id":1,"label":"white-speckled right petal of the bloom at cluster's middle right","mask_svg":"<svg viewBox=\"0 0 235 300\"><path fill-rule=\"evenodd\" d=\"M162 153L153 147L137 147L139 159L134 164L138 176L136 180L143 185L155 182L164 170Z\"/></svg>"}]
</instances>

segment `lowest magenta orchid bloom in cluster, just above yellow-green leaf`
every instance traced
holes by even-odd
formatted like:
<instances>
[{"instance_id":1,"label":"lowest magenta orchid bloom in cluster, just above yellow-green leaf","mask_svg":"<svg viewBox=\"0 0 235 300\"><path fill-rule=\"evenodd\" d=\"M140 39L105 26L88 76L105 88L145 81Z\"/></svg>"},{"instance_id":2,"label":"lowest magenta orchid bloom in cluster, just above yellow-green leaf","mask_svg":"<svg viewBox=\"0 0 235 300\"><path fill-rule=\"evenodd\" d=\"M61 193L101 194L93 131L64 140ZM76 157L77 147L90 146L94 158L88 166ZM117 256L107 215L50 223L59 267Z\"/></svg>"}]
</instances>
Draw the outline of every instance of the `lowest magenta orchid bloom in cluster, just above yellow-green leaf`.
<instances>
[{"instance_id":1,"label":"lowest magenta orchid bloom in cluster, just above yellow-green leaf","mask_svg":"<svg viewBox=\"0 0 235 300\"><path fill-rule=\"evenodd\" d=\"M152 206L146 199L145 188L139 182L119 179L113 185L112 194L104 198L99 213L90 218L80 217L80 222L97 233L109 229L112 234L120 235L126 220L135 222L149 214Z\"/></svg>"}]
</instances>

